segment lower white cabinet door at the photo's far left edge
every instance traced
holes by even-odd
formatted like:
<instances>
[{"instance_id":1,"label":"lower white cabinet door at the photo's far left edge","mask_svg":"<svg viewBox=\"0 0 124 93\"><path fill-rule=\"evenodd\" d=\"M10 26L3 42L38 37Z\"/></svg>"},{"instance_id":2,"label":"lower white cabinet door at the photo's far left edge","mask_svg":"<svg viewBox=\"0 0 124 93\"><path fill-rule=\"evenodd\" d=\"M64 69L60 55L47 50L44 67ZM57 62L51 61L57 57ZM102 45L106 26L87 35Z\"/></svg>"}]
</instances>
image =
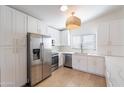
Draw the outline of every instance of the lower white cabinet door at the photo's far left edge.
<instances>
[{"instance_id":1,"label":"lower white cabinet door at the photo's far left edge","mask_svg":"<svg viewBox=\"0 0 124 93\"><path fill-rule=\"evenodd\" d=\"M1 86L15 86L15 49L0 48L1 59Z\"/></svg>"}]
</instances>

